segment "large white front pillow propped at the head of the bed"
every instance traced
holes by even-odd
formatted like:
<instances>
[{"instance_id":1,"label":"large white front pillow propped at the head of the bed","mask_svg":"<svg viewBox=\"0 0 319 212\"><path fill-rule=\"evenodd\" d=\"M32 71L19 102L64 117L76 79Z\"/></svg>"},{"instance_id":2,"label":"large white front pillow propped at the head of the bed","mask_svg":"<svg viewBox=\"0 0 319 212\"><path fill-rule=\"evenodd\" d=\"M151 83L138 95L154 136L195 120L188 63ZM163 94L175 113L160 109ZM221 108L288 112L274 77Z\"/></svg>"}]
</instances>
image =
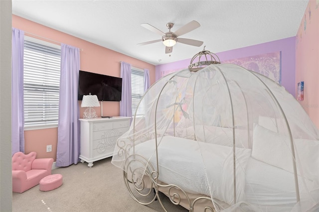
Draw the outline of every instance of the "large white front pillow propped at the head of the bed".
<instances>
[{"instance_id":1,"label":"large white front pillow propped at the head of the bed","mask_svg":"<svg viewBox=\"0 0 319 212\"><path fill-rule=\"evenodd\" d=\"M252 157L294 173L290 138L254 124ZM295 139L299 175L319 183L319 140Z\"/></svg>"}]
</instances>

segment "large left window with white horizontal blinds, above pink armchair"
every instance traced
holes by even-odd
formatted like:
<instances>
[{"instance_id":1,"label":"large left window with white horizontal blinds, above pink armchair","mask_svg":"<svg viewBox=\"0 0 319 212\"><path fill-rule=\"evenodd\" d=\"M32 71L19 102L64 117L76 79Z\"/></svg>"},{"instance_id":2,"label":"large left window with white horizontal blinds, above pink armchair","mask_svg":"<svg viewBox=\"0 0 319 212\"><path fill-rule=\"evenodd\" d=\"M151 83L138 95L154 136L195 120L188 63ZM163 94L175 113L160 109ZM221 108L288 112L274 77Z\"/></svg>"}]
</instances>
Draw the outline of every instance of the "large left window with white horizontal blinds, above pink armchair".
<instances>
[{"instance_id":1,"label":"large left window with white horizontal blinds, above pink armchair","mask_svg":"<svg viewBox=\"0 0 319 212\"><path fill-rule=\"evenodd\" d=\"M61 47L25 37L23 60L24 127L56 125Z\"/></svg>"}]
</instances>

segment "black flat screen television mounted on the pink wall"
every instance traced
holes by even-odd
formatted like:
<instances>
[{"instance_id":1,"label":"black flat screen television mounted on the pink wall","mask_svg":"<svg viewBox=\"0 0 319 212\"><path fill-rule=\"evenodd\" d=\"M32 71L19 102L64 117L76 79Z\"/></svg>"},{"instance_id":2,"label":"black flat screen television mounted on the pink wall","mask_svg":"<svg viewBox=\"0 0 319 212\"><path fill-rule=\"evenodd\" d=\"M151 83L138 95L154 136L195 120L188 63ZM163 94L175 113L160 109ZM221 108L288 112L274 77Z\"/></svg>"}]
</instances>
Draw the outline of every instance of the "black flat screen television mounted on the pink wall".
<instances>
[{"instance_id":1,"label":"black flat screen television mounted on the pink wall","mask_svg":"<svg viewBox=\"0 0 319 212\"><path fill-rule=\"evenodd\" d=\"M78 100L90 93L96 95L99 101L119 102L122 95L122 78L80 70Z\"/></svg>"}]
</instances>

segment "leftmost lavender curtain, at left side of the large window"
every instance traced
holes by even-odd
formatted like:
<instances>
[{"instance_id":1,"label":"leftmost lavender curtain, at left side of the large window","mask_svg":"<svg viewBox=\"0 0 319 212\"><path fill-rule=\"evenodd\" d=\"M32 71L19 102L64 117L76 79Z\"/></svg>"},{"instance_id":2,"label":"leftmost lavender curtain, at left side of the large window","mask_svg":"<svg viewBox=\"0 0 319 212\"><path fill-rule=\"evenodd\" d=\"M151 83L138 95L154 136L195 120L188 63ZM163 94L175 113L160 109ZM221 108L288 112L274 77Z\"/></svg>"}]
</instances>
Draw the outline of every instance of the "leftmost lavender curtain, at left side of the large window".
<instances>
[{"instance_id":1,"label":"leftmost lavender curtain, at left side of the large window","mask_svg":"<svg viewBox=\"0 0 319 212\"><path fill-rule=\"evenodd\" d=\"M11 151L24 152L23 50L24 31L12 28Z\"/></svg>"}]
</instances>

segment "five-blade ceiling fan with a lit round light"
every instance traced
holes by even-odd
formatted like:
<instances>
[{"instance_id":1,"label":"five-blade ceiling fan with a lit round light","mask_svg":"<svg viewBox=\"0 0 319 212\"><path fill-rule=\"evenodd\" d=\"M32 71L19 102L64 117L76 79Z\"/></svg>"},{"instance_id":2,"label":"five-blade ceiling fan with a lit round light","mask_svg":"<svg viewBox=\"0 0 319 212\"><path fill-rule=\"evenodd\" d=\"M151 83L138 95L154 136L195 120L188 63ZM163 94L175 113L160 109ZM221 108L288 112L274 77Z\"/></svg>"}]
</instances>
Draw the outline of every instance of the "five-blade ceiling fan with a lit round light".
<instances>
[{"instance_id":1,"label":"five-blade ceiling fan with a lit round light","mask_svg":"<svg viewBox=\"0 0 319 212\"><path fill-rule=\"evenodd\" d=\"M175 32L170 31L170 29L174 26L174 24L167 23L166 26L167 26L169 31L166 33L160 31L160 29L158 29L158 28L156 28L148 23L142 23L141 26L151 30L152 32L158 33L159 35L161 35L161 39L152 40L152 41L148 41L148 42L144 42L144 43L139 43L139 45L146 45L146 44L151 44L151 43L156 43L156 42L162 41L163 44L166 46L166 48L165 48L166 54L171 53L173 51L173 46L177 42L191 45L191 46L201 46L203 44L203 41L179 37L179 36L186 34L187 32L190 32L190 31L192 31L200 26L200 24L195 20L190 21L189 23L187 23L184 26L177 29Z\"/></svg>"}]
</instances>

